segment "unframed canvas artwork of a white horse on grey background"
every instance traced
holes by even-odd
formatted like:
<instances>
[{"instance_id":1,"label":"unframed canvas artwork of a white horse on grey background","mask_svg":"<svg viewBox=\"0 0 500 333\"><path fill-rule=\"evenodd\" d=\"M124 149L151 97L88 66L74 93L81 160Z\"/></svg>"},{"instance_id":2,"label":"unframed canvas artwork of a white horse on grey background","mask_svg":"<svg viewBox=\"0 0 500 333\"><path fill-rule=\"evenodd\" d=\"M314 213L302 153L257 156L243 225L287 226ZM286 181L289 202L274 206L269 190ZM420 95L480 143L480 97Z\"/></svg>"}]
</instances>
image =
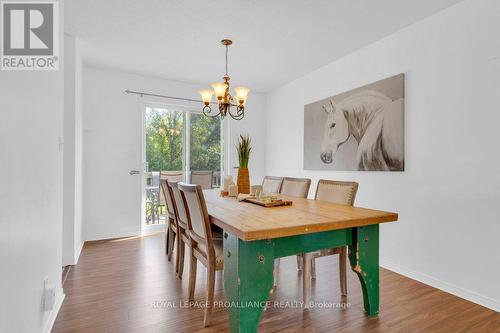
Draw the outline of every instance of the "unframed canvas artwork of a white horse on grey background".
<instances>
[{"instance_id":1,"label":"unframed canvas artwork of a white horse on grey background","mask_svg":"<svg viewBox=\"0 0 500 333\"><path fill-rule=\"evenodd\" d=\"M404 171L404 74L304 106L304 169Z\"/></svg>"}]
</instances>

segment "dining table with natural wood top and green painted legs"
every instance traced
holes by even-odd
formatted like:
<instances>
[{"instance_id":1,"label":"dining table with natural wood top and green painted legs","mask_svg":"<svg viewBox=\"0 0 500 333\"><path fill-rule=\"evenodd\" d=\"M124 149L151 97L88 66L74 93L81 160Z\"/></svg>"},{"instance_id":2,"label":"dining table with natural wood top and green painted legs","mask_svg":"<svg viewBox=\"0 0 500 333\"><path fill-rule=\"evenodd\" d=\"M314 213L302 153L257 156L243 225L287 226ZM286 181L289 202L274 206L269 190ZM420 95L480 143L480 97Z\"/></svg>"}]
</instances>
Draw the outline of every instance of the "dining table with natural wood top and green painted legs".
<instances>
[{"instance_id":1,"label":"dining table with natural wood top and green painted legs","mask_svg":"<svg viewBox=\"0 0 500 333\"><path fill-rule=\"evenodd\" d=\"M313 251L348 247L363 293L364 310L379 309L379 224L397 213L280 196L289 206L263 207L205 190L210 222L223 230L224 290L232 333L257 332L273 291L274 260L302 254L303 276ZM311 283L303 279L304 290ZM305 296L309 298L309 296ZM305 307L309 299L303 300Z\"/></svg>"}]
</instances>

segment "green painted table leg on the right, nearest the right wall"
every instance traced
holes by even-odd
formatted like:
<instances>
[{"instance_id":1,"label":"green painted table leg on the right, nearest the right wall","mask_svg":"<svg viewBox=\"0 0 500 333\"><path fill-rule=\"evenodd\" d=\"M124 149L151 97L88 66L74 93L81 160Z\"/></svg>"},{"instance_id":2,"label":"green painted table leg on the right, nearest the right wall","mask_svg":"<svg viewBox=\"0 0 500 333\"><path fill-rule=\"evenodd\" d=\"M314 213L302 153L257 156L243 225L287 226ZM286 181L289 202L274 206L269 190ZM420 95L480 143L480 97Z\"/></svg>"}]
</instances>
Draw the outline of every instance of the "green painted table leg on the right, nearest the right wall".
<instances>
[{"instance_id":1,"label":"green painted table leg on the right, nearest the right wall","mask_svg":"<svg viewBox=\"0 0 500 333\"><path fill-rule=\"evenodd\" d=\"M379 306L378 230L378 224L353 228L352 245L349 246L349 261L361 282L365 311L369 316L377 315Z\"/></svg>"}]
</instances>

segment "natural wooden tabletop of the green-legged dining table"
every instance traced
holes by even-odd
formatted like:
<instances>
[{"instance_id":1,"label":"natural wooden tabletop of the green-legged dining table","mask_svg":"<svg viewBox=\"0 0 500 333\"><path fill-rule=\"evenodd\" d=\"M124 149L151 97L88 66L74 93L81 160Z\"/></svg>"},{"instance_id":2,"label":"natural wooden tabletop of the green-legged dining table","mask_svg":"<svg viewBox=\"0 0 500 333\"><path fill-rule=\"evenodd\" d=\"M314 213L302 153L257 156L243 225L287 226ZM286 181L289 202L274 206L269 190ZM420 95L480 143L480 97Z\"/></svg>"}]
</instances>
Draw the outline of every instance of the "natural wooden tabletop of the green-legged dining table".
<instances>
[{"instance_id":1,"label":"natural wooden tabletop of the green-legged dining table","mask_svg":"<svg viewBox=\"0 0 500 333\"><path fill-rule=\"evenodd\" d=\"M220 197L218 190L205 190L210 221L242 240L259 240L360 227L397 221L397 213L336 205L326 201L292 200L291 206L261 207L236 198Z\"/></svg>"}]
</instances>

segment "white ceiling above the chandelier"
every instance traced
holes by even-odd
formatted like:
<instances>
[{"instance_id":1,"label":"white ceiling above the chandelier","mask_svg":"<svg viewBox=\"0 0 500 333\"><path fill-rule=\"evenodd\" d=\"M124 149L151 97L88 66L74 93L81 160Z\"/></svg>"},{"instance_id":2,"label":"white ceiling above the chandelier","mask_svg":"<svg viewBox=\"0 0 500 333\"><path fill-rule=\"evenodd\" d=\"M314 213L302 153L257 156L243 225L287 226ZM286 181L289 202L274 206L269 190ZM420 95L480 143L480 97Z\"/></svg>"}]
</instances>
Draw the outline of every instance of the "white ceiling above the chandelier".
<instances>
[{"instance_id":1,"label":"white ceiling above the chandelier","mask_svg":"<svg viewBox=\"0 0 500 333\"><path fill-rule=\"evenodd\" d=\"M265 92L460 0L66 0L88 64Z\"/></svg>"}]
</instances>

